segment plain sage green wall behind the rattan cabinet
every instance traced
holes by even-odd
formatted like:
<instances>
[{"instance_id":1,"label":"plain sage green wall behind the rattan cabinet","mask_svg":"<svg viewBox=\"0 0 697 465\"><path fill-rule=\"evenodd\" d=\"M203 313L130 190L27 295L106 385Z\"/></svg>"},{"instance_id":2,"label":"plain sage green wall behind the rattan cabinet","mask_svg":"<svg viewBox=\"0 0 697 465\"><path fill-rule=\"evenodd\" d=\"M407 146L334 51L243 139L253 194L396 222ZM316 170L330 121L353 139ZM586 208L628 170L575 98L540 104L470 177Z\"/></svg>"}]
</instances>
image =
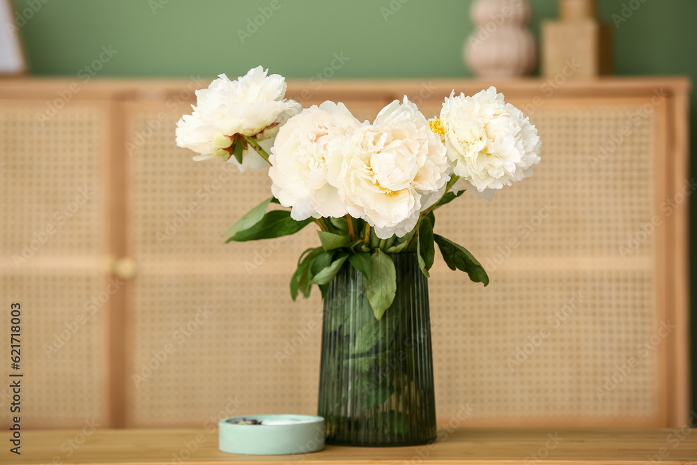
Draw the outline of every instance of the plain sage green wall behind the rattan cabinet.
<instances>
[{"instance_id":1,"label":"plain sage green wall behind the rattan cabinet","mask_svg":"<svg viewBox=\"0 0 697 465\"><path fill-rule=\"evenodd\" d=\"M531 1L532 27L537 33L540 20L556 17L557 1ZM20 30L29 66L38 75L75 76L98 59L102 46L111 46L117 53L103 63L99 76L237 76L262 64L273 73L307 79L330 66L334 54L346 58L334 77L467 77L470 73L462 63L461 46L473 29L470 3L13 0L21 15L18 24L26 20ZM622 17L623 9L631 12L614 31L618 75L687 75L697 80L697 1L598 3L600 16L607 21L613 15ZM259 8L268 19L258 30L246 31L248 20L260 14ZM240 38L239 31L249 36ZM696 95L691 98L693 113ZM694 140L696 121L691 123ZM695 153L693 149L693 166L697 165ZM695 204L691 207L693 230ZM692 268L696 263L697 254L692 252ZM696 282L694 277L692 282ZM693 335L697 335L695 307ZM697 362L697 350L692 353ZM697 372L697 363L694 367ZM693 392L697 405L697 389Z\"/></svg>"}]
</instances>

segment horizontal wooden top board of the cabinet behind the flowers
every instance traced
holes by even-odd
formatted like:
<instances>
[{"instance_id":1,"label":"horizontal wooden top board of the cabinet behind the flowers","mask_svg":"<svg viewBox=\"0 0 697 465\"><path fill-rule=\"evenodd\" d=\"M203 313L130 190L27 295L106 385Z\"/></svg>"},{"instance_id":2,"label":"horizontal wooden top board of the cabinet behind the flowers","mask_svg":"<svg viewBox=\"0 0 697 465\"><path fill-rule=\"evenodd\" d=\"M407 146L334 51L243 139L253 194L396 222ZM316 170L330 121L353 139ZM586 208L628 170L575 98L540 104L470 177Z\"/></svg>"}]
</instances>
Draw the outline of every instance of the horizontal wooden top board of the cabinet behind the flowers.
<instances>
[{"instance_id":1,"label":"horizontal wooden top board of the cabinet behind the flowers","mask_svg":"<svg viewBox=\"0 0 697 465\"><path fill-rule=\"evenodd\" d=\"M53 96L56 91L72 89L74 98L106 99L146 99L153 100L176 93L182 97L184 91L193 91L208 86L214 77L192 76L189 79L91 79L82 82L74 77L0 77L0 98L41 98L46 94ZM233 77L231 77L233 78ZM424 77L423 79L330 79L319 88L312 79L288 79L289 95L308 89L316 96L332 96L337 93L350 93L354 96L372 98L383 94L408 93L413 96L438 96L442 93L474 93L489 86L499 91L514 93L521 98L542 97L585 97L585 96L652 96L656 92L668 95L689 92L687 77L661 76L613 76L595 79L556 79L551 77L528 77L524 79L443 79ZM188 94L187 94L188 95Z\"/></svg>"}]
</instances>

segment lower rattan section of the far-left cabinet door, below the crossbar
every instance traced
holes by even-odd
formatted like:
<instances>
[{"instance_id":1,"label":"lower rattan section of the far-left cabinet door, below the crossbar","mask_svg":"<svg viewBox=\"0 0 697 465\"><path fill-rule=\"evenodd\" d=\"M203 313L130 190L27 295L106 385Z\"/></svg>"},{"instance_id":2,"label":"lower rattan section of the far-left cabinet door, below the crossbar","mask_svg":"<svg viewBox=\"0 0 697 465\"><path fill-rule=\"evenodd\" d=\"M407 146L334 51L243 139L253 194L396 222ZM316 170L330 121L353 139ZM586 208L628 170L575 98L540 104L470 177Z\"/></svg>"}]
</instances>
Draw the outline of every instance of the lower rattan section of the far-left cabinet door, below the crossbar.
<instances>
[{"instance_id":1,"label":"lower rattan section of the far-left cabinet door, below the crossbar","mask_svg":"<svg viewBox=\"0 0 697 465\"><path fill-rule=\"evenodd\" d=\"M108 425L108 360L105 307L107 283L95 270L22 270L0 279L10 302L22 304L22 427L79 428ZM13 299L13 296L18 298ZM82 315L79 317L78 315ZM3 319L3 320L8 320ZM9 322L0 330L10 333ZM8 337L9 340L9 337ZM8 378L9 363L0 374ZM9 383L0 388L0 408L12 402ZM3 420L9 420L3 416Z\"/></svg>"}]
</instances>

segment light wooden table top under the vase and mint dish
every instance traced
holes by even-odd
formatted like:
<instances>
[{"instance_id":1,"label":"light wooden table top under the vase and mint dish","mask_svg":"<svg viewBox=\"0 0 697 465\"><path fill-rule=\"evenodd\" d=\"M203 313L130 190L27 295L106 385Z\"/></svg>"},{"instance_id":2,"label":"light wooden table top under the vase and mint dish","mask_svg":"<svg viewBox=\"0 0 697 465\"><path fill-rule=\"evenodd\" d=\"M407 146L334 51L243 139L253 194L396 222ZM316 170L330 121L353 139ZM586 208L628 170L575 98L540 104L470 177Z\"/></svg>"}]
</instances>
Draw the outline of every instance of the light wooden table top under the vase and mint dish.
<instances>
[{"instance_id":1,"label":"light wooden table top under the vase and mint dish","mask_svg":"<svg viewBox=\"0 0 697 465\"><path fill-rule=\"evenodd\" d=\"M697 464L697 429L439 430L439 441L404 448L328 445L307 455L231 455L217 429L22 432L21 455L3 441L2 464Z\"/></svg>"}]
</instances>

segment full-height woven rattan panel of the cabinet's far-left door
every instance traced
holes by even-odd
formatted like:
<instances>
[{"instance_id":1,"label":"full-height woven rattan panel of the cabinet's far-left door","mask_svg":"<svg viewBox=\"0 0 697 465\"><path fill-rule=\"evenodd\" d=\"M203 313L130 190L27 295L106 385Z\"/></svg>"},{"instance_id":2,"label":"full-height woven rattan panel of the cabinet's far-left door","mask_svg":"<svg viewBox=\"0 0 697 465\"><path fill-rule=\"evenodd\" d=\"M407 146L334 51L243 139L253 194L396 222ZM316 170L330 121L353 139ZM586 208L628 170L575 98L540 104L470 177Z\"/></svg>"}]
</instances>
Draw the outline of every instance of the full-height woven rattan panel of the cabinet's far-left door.
<instances>
[{"instance_id":1,"label":"full-height woven rattan panel of the cabinet's far-left door","mask_svg":"<svg viewBox=\"0 0 697 465\"><path fill-rule=\"evenodd\" d=\"M101 180L109 112L63 105L53 114L43 100L0 102L0 294L3 314L22 304L17 372L28 428L108 421ZM1 319L0 331L8 335L9 325ZM0 389L3 410L8 393Z\"/></svg>"}]
</instances>

